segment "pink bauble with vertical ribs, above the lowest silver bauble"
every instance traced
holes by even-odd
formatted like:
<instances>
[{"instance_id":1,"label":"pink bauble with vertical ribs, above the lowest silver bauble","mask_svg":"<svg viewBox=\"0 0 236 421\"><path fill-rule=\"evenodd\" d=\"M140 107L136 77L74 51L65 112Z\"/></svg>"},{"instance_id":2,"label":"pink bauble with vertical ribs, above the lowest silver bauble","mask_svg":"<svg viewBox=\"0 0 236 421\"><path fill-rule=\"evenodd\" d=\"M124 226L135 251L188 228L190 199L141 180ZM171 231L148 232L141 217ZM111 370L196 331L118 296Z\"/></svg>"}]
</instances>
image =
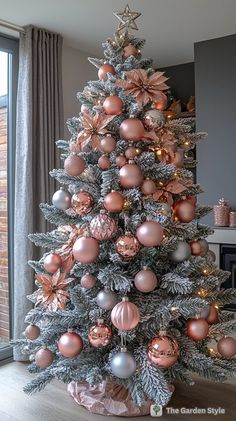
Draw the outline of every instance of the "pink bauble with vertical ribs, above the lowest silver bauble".
<instances>
[{"instance_id":1,"label":"pink bauble with vertical ribs, above the lowest silver bauble","mask_svg":"<svg viewBox=\"0 0 236 421\"><path fill-rule=\"evenodd\" d=\"M119 330L134 329L140 321L139 309L127 297L124 297L120 303L113 307L111 321Z\"/></svg>"}]
</instances>

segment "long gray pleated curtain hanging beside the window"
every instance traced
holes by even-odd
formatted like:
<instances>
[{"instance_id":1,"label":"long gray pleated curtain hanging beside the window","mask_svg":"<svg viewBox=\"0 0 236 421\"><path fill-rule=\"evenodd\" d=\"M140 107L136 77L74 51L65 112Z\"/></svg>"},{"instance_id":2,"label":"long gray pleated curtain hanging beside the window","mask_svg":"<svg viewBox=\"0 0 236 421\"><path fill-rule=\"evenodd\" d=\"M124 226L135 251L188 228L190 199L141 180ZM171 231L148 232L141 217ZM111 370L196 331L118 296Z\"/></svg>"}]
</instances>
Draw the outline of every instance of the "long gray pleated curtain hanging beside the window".
<instances>
[{"instance_id":1,"label":"long gray pleated curtain hanging beside the window","mask_svg":"<svg viewBox=\"0 0 236 421\"><path fill-rule=\"evenodd\" d=\"M14 214L14 339L21 338L24 318L32 308L26 296L34 290L34 274L27 265L40 250L28 234L46 232L39 210L55 191L49 171L58 165L55 140L63 136L62 37L28 26L20 35L16 122ZM15 360L25 360L17 349Z\"/></svg>"}]
</instances>

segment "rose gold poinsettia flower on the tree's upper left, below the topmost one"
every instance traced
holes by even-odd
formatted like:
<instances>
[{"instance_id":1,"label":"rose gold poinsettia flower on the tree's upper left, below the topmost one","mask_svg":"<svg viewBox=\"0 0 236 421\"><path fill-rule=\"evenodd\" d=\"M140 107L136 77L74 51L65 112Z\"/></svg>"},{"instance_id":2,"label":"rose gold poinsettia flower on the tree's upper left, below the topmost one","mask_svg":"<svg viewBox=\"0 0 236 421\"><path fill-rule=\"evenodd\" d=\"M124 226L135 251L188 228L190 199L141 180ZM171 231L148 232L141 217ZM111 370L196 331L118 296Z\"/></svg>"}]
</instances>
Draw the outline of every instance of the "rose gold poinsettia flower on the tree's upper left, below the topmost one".
<instances>
[{"instance_id":1,"label":"rose gold poinsettia flower on the tree's upper left, below the topmost one","mask_svg":"<svg viewBox=\"0 0 236 421\"><path fill-rule=\"evenodd\" d=\"M97 148L100 145L100 136L109 133L106 130L106 126L113 120L115 116L108 116L103 113L90 114L84 112L80 117L80 123L83 129L78 133L76 144L80 146L81 150L91 143L93 148Z\"/></svg>"}]
</instances>

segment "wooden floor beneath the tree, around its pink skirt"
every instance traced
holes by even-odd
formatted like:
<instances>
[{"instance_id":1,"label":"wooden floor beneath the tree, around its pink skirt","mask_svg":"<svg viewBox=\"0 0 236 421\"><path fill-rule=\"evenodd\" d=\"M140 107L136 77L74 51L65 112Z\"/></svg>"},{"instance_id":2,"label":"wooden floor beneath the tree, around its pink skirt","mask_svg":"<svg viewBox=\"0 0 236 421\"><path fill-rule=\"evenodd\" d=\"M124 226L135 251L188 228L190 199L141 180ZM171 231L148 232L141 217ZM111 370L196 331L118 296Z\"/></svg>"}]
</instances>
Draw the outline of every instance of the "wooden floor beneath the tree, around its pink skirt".
<instances>
[{"instance_id":1,"label":"wooden floor beneath the tree, around its pink skirt","mask_svg":"<svg viewBox=\"0 0 236 421\"><path fill-rule=\"evenodd\" d=\"M79 407L67 394L66 386L57 381L44 391L33 396L22 392L22 387L31 378L24 363L9 363L0 367L0 421L104 421L121 420L119 417L102 417ZM213 384L197 380L193 387L176 385L171 403L173 408L225 408L225 415L167 415L162 421L233 421L236 420L236 383ZM131 418L124 418L131 419ZM132 418L134 420L134 418ZM137 418L140 421L152 417Z\"/></svg>"}]
</instances>

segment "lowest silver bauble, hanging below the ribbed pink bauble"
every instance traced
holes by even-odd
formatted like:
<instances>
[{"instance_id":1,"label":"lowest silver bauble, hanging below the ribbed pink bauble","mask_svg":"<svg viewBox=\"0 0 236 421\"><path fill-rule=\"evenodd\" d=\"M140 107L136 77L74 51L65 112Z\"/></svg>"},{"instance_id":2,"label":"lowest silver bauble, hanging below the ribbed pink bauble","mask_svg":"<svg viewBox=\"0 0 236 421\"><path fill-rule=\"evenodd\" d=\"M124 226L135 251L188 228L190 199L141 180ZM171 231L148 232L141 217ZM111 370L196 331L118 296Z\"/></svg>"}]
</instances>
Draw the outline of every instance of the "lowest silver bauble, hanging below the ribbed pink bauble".
<instances>
[{"instance_id":1,"label":"lowest silver bauble, hanging below the ribbed pink bauble","mask_svg":"<svg viewBox=\"0 0 236 421\"><path fill-rule=\"evenodd\" d=\"M134 357L126 350L121 350L111 359L111 371L119 379L128 379L136 370Z\"/></svg>"}]
</instances>

